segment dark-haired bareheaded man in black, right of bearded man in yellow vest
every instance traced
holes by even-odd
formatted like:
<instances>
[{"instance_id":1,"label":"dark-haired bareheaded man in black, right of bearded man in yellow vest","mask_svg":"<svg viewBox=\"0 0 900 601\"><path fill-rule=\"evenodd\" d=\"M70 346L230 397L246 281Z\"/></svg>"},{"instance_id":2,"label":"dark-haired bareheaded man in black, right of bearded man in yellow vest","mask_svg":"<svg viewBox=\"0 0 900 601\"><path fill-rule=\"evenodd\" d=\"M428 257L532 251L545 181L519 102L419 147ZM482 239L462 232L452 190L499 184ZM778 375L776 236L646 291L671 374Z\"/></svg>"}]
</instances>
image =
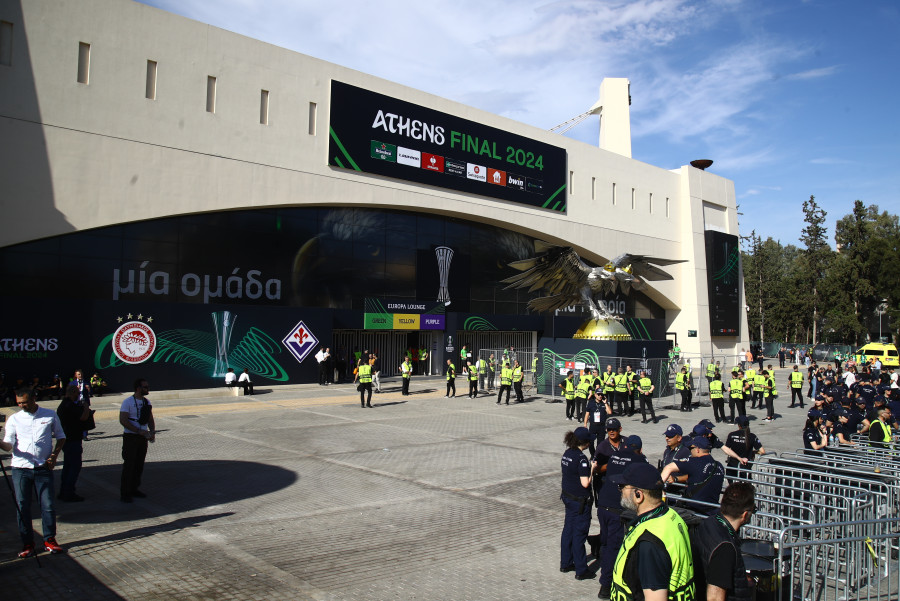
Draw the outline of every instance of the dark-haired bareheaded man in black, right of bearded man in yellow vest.
<instances>
[{"instance_id":1,"label":"dark-haired bareheaded man in black, right of bearded man in yellow vest","mask_svg":"<svg viewBox=\"0 0 900 601\"><path fill-rule=\"evenodd\" d=\"M756 511L755 496L752 484L735 482L722 494L719 512L703 520L694 531L694 582L701 599L756 598L744 567L738 534Z\"/></svg>"}]
</instances>

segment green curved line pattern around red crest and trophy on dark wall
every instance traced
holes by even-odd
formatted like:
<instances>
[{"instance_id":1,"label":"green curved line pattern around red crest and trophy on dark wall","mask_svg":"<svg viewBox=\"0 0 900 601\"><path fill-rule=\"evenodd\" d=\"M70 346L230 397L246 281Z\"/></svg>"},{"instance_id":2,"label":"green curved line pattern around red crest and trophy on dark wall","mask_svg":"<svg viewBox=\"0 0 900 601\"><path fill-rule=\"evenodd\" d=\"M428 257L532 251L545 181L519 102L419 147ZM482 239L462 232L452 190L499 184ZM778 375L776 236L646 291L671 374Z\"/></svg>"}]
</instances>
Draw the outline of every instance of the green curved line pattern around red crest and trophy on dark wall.
<instances>
[{"instance_id":1,"label":"green curved line pattern around red crest and trophy on dark wall","mask_svg":"<svg viewBox=\"0 0 900 601\"><path fill-rule=\"evenodd\" d=\"M94 367L110 369L124 365L112 350L110 334L100 341L94 353ZM211 373L216 363L216 337L198 330L167 330L157 334L154 363L177 363L199 372ZM250 328L230 352L229 363L246 367L254 375L287 382L288 374L275 360L283 352L281 345L260 329Z\"/></svg>"}]
</instances>

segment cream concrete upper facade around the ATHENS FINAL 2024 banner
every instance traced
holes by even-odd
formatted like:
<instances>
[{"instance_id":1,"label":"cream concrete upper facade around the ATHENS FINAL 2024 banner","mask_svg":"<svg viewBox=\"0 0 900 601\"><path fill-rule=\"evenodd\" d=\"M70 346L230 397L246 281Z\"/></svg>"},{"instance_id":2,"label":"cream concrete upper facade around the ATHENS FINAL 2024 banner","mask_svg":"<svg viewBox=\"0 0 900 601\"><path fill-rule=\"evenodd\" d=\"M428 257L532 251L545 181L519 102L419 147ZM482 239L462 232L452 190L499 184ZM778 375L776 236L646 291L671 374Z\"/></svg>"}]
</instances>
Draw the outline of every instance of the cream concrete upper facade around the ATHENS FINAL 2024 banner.
<instances>
[{"instance_id":1,"label":"cream concrete upper facade around the ATHENS FINAL 2024 banner","mask_svg":"<svg viewBox=\"0 0 900 601\"><path fill-rule=\"evenodd\" d=\"M622 252L687 259L647 291L668 331L688 353L747 347L743 312L738 336L709 327L703 236L738 234L733 182L630 158L630 126L611 123L615 113L604 116L613 152L126 0L5 2L0 20L12 25L0 181L5 221L16 224L0 230L0 247L254 207L438 213L571 245L596 263ZM564 148L566 213L329 167L332 79ZM622 86L610 88L621 105Z\"/></svg>"}]
</instances>

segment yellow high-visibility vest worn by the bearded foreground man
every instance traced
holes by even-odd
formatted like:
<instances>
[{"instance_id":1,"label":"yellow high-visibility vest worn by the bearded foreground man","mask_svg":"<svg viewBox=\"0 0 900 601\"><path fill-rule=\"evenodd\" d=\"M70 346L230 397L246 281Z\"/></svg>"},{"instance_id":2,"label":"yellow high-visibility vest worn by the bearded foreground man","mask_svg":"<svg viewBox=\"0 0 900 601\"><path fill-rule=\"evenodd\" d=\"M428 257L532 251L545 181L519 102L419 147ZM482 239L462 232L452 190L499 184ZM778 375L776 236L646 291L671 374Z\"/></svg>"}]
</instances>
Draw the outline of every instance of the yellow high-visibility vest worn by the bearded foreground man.
<instances>
[{"instance_id":1,"label":"yellow high-visibility vest worn by the bearded foreground man","mask_svg":"<svg viewBox=\"0 0 900 601\"><path fill-rule=\"evenodd\" d=\"M644 534L653 535L662 542L669 553L672 573L669 576L669 601L694 601L694 559L691 555L691 541L688 538L687 525L674 509L661 505L644 517L637 520L628 532L619 548L616 562L613 565L611 601L633 601L634 592L625 582L625 567L630 563L629 556L637 547ZM643 598L643 596L641 597Z\"/></svg>"}]
</instances>

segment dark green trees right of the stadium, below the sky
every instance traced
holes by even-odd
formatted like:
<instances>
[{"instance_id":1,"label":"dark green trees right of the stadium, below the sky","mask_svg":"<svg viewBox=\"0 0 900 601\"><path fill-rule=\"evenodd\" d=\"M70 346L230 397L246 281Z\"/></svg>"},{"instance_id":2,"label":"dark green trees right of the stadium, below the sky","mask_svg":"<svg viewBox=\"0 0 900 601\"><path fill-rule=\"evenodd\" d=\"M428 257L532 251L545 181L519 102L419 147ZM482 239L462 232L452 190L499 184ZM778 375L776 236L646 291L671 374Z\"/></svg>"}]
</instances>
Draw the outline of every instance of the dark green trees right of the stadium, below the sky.
<instances>
[{"instance_id":1,"label":"dark green trees right of the stadium, below the sky","mask_svg":"<svg viewBox=\"0 0 900 601\"><path fill-rule=\"evenodd\" d=\"M900 338L900 218L853 203L837 221L833 250L826 212L815 197L803 203L801 247L746 238L744 290L751 337L785 342L861 345Z\"/></svg>"}]
</instances>

